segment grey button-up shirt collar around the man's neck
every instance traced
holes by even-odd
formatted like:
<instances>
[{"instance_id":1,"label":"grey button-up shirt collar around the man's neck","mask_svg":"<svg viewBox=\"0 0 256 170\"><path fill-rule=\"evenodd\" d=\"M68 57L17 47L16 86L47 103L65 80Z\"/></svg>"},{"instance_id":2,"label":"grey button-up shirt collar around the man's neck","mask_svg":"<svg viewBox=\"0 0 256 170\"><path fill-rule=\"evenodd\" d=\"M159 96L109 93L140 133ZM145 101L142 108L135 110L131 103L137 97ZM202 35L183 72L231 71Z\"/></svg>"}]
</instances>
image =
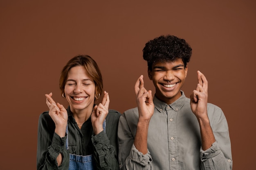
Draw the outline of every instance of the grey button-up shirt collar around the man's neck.
<instances>
[{"instance_id":1,"label":"grey button-up shirt collar around the man's neck","mask_svg":"<svg viewBox=\"0 0 256 170\"><path fill-rule=\"evenodd\" d=\"M181 90L181 96L180 98L178 98L175 102L171 103L170 106L174 111L179 111L185 104L186 101L186 96L184 94L184 92ZM162 102L161 100L159 100L156 96L154 96L153 99L155 108L159 111L162 112L163 110L165 110L167 104L165 102Z\"/></svg>"}]
</instances>

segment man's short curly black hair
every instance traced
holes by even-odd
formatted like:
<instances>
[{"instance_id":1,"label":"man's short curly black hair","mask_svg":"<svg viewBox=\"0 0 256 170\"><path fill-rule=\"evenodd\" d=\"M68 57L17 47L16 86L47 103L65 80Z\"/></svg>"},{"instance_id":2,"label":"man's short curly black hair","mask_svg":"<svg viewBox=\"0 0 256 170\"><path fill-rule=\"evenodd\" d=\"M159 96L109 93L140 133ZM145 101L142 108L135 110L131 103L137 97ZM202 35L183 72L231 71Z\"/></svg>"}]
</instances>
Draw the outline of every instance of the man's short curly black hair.
<instances>
[{"instance_id":1,"label":"man's short curly black hair","mask_svg":"<svg viewBox=\"0 0 256 170\"><path fill-rule=\"evenodd\" d=\"M182 59L184 67L190 61L192 48L184 40L173 35L161 35L148 41L143 48L143 59L148 62L148 69L156 62L169 62Z\"/></svg>"}]
</instances>

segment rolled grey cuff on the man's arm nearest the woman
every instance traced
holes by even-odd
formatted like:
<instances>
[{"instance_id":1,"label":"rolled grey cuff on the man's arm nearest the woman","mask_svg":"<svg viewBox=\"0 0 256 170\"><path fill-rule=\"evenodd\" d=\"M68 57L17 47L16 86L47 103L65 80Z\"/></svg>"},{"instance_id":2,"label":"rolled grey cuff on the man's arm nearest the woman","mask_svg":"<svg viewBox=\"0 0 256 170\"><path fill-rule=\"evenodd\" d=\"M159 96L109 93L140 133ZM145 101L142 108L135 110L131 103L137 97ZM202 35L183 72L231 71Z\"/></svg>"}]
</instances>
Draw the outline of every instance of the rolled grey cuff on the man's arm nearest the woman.
<instances>
[{"instance_id":1,"label":"rolled grey cuff on the man's arm nearest the woman","mask_svg":"<svg viewBox=\"0 0 256 170\"><path fill-rule=\"evenodd\" d=\"M148 153L143 155L143 153L139 152L139 150L136 149L134 144L132 144L132 149L130 151L129 157L130 157L130 159L132 159L132 161L135 161L142 166L147 166L152 161L152 157L151 157L149 151L148 151Z\"/></svg>"}]
</instances>

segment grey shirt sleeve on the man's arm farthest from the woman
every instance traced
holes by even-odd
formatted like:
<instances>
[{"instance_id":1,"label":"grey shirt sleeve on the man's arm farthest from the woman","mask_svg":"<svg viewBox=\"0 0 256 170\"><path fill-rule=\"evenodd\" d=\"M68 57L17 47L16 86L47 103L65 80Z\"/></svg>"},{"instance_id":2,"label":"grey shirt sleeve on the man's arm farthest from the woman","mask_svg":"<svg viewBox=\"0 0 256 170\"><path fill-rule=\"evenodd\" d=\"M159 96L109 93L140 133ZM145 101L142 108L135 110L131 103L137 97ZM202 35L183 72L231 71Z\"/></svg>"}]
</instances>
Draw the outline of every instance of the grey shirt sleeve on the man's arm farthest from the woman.
<instances>
[{"instance_id":1,"label":"grey shirt sleeve on the man's arm farthest from the woman","mask_svg":"<svg viewBox=\"0 0 256 170\"><path fill-rule=\"evenodd\" d=\"M210 110L213 109L211 105L208 107ZM219 107L215 107L213 113L213 115L209 115L209 118L213 120L211 127L216 142L207 150L202 150L201 147L201 170L231 170L233 162L227 120Z\"/></svg>"}]
</instances>

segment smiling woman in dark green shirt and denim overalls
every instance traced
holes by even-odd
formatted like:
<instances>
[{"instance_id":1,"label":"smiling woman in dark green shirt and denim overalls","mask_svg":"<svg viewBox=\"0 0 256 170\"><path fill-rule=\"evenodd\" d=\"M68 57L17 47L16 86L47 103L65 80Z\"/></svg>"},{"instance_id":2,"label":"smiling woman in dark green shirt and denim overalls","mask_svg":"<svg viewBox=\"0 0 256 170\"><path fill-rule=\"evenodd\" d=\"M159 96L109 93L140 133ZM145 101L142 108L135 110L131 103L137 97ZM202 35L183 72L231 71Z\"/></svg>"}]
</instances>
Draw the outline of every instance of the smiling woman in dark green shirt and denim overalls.
<instances>
[{"instance_id":1,"label":"smiling woman in dark green shirt and denim overalls","mask_svg":"<svg viewBox=\"0 0 256 170\"><path fill-rule=\"evenodd\" d=\"M88 55L72 58L60 76L61 94L69 107L45 94L49 112L38 122L38 170L117 170L119 112L108 110L101 72ZM103 93L99 105L94 102Z\"/></svg>"}]
</instances>

